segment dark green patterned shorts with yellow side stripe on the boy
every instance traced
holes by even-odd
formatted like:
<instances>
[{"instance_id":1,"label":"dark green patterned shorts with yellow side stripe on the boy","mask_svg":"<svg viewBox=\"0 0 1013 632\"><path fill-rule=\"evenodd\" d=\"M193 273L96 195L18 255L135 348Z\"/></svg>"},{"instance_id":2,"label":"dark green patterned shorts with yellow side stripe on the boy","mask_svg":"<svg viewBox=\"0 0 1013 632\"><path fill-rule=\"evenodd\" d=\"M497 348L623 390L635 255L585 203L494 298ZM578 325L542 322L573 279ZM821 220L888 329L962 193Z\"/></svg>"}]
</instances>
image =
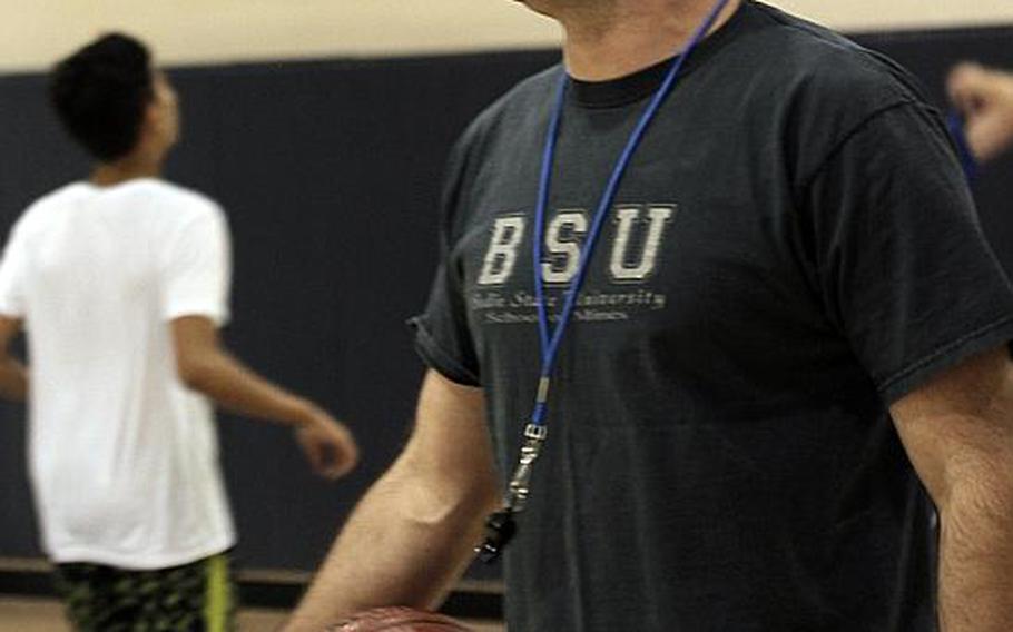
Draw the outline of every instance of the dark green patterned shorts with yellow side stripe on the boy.
<instances>
[{"instance_id":1,"label":"dark green patterned shorts with yellow side stripe on the boy","mask_svg":"<svg viewBox=\"0 0 1013 632\"><path fill-rule=\"evenodd\" d=\"M78 632L235 630L227 553L156 571L59 564L57 589Z\"/></svg>"}]
</instances>

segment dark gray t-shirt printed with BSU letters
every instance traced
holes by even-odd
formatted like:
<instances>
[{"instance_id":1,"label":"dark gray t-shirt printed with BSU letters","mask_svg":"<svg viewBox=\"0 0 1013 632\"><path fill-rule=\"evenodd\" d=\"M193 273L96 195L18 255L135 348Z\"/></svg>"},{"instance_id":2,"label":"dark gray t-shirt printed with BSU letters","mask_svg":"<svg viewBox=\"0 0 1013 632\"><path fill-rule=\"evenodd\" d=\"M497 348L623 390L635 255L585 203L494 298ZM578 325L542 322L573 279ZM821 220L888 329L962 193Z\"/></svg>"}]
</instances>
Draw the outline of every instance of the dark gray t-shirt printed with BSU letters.
<instances>
[{"instance_id":1,"label":"dark gray t-shirt printed with BSU letters","mask_svg":"<svg viewBox=\"0 0 1013 632\"><path fill-rule=\"evenodd\" d=\"M665 68L567 96L552 310ZM553 92L455 149L417 346L488 396L513 468L539 368L531 236ZM511 630L935 629L932 506L887 405L1013 337L1013 293L906 72L756 2L690 59L633 157L506 554Z\"/></svg>"}]
</instances>

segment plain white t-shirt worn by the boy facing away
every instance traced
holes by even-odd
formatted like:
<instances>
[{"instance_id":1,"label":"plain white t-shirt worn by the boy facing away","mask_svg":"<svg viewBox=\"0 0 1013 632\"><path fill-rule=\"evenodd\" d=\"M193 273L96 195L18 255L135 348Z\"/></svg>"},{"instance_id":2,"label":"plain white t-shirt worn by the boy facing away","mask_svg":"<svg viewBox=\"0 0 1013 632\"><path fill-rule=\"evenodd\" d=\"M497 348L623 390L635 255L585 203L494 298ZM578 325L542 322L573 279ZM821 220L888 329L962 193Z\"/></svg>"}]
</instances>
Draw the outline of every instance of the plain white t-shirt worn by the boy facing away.
<instances>
[{"instance_id":1,"label":"plain white t-shirt worn by the boy facing away","mask_svg":"<svg viewBox=\"0 0 1013 632\"><path fill-rule=\"evenodd\" d=\"M29 462L55 562L159 569L235 532L209 403L176 373L169 322L228 318L222 209L154 179L78 182L35 203L0 264L0 314L23 318Z\"/></svg>"}]
</instances>

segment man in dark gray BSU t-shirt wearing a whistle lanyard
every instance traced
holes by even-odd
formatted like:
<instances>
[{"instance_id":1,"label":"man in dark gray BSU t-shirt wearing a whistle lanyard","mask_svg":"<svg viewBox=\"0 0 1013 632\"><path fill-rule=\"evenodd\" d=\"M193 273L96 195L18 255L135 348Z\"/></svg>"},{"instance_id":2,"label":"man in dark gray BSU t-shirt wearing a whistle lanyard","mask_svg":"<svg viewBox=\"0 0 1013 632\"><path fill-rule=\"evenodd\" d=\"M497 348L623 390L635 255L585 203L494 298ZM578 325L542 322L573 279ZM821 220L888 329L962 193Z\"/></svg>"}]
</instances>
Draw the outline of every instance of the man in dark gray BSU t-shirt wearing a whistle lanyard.
<instances>
[{"instance_id":1,"label":"man in dark gray BSU t-shirt wearing a whistle lanyard","mask_svg":"<svg viewBox=\"0 0 1013 632\"><path fill-rule=\"evenodd\" d=\"M564 63L453 152L415 432L294 629L452 585L531 418L533 267L559 323L617 159L709 10L528 3L564 27ZM1013 292L912 78L731 2L604 208L505 552L509 628L1009 630Z\"/></svg>"}]
</instances>

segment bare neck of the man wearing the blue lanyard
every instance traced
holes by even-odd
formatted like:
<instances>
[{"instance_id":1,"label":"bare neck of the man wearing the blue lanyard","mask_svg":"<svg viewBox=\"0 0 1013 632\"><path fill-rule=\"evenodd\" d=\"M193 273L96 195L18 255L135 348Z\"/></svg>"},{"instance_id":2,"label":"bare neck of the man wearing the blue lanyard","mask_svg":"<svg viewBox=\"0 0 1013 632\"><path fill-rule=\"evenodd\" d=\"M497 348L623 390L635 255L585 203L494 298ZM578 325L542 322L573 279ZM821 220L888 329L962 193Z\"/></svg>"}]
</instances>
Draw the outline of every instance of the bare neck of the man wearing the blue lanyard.
<instances>
[{"instance_id":1,"label":"bare neck of the man wearing the blue lanyard","mask_svg":"<svg viewBox=\"0 0 1013 632\"><path fill-rule=\"evenodd\" d=\"M558 16L571 77L604 81L631 75L678 53L717 0L617 0L591 11ZM711 32L742 0L729 0Z\"/></svg>"}]
</instances>

